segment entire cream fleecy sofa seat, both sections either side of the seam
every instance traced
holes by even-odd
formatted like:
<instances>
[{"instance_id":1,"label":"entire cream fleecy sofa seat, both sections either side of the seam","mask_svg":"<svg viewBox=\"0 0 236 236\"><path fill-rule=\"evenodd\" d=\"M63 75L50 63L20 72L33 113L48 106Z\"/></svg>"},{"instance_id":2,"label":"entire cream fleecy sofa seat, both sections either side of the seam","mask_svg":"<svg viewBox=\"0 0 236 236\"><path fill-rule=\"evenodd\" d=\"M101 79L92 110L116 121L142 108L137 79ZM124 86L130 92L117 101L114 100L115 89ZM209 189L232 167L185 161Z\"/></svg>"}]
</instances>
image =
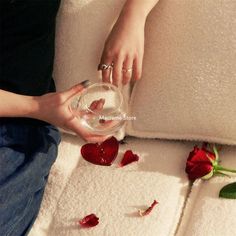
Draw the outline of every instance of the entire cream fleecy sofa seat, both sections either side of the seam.
<instances>
[{"instance_id":1,"label":"entire cream fleecy sofa seat, both sections either side of the seam","mask_svg":"<svg viewBox=\"0 0 236 236\"><path fill-rule=\"evenodd\" d=\"M39 216L30 236L233 236L236 235L235 200L219 199L223 185L236 178L197 181L190 189L184 168L197 143L128 138L110 167L83 160L83 142L64 134ZM132 149L140 161L117 168L122 153ZM235 166L236 147L224 146L224 166ZM189 192L191 193L189 195ZM159 204L146 217L137 209L154 199ZM100 224L80 229L76 220L95 213Z\"/></svg>"}]
</instances>

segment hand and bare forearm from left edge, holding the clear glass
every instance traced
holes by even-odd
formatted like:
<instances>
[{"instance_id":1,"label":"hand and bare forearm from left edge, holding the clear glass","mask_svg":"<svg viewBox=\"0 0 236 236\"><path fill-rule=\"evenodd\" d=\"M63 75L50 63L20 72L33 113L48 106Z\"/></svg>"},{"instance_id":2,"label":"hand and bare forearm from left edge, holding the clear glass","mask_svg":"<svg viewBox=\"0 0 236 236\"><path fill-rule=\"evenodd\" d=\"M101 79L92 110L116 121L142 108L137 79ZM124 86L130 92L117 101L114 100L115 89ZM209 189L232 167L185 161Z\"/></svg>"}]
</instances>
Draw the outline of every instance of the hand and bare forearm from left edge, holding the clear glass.
<instances>
[{"instance_id":1,"label":"hand and bare forearm from left edge, holding the clear glass","mask_svg":"<svg viewBox=\"0 0 236 236\"><path fill-rule=\"evenodd\" d=\"M28 117L43 120L70 130L86 141L102 142L108 136L89 133L70 109L71 101L87 87L87 82L77 84L64 92L48 93L42 96L25 96L0 89L0 117ZM100 110L104 102L104 99L94 101L90 109Z\"/></svg>"}]
</instances>

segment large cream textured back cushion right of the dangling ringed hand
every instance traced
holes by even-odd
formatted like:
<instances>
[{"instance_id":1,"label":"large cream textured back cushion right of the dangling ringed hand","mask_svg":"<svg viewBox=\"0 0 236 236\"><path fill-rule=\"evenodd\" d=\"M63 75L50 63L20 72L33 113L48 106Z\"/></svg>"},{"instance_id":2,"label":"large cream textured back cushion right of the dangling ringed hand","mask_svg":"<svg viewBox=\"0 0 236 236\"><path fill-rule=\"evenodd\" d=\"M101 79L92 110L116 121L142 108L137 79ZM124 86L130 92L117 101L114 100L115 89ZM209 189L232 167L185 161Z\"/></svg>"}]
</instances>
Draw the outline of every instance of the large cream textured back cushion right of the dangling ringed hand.
<instances>
[{"instance_id":1,"label":"large cream textured back cushion right of the dangling ringed hand","mask_svg":"<svg viewBox=\"0 0 236 236\"><path fill-rule=\"evenodd\" d=\"M236 1L160 0L127 132L236 144Z\"/></svg>"}]
</instances>

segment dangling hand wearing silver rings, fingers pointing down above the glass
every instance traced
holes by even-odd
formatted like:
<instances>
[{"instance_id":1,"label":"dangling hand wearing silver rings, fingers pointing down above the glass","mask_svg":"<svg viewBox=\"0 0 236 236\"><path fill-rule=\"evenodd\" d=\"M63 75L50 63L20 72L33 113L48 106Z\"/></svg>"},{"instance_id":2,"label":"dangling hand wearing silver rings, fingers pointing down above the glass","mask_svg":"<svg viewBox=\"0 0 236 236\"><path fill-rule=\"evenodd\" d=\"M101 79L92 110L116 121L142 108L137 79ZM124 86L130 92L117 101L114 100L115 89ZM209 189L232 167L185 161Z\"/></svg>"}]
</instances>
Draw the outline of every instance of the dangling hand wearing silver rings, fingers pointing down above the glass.
<instances>
[{"instance_id":1,"label":"dangling hand wearing silver rings, fingers pointing down above the glass","mask_svg":"<svg viewBox=\"0 0 236 236\"><path fill-rule=\"evenodd\" d=\"M112 65L102 69L102 80L112 83L127 84L131 78L138 80L142 74L144 53L145 20L134 14L122 14L109 34L101 57L102 64Z\"/></svg>"}]
</instances>

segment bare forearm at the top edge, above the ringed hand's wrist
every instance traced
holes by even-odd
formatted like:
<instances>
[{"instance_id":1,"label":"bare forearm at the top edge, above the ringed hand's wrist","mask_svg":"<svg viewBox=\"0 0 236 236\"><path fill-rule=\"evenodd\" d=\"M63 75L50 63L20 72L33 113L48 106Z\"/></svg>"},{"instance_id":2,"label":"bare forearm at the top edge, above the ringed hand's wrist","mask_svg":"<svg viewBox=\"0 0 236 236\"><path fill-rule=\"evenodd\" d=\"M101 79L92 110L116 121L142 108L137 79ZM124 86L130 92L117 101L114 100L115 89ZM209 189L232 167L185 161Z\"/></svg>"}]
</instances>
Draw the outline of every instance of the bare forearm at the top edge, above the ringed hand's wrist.
<instances>
[{"instance_id":1,"label":"bare forearm at the top edge, above the ringed hand's wrist","mask_svg":"<svg viewBox=\"0 0 236 236\"><path fill-rule=\"evenodd\" d=\"M121 11L121 16L138 17L145 23L152 8L159 0L127 0Z\"/></svg>"}]
</instances>

